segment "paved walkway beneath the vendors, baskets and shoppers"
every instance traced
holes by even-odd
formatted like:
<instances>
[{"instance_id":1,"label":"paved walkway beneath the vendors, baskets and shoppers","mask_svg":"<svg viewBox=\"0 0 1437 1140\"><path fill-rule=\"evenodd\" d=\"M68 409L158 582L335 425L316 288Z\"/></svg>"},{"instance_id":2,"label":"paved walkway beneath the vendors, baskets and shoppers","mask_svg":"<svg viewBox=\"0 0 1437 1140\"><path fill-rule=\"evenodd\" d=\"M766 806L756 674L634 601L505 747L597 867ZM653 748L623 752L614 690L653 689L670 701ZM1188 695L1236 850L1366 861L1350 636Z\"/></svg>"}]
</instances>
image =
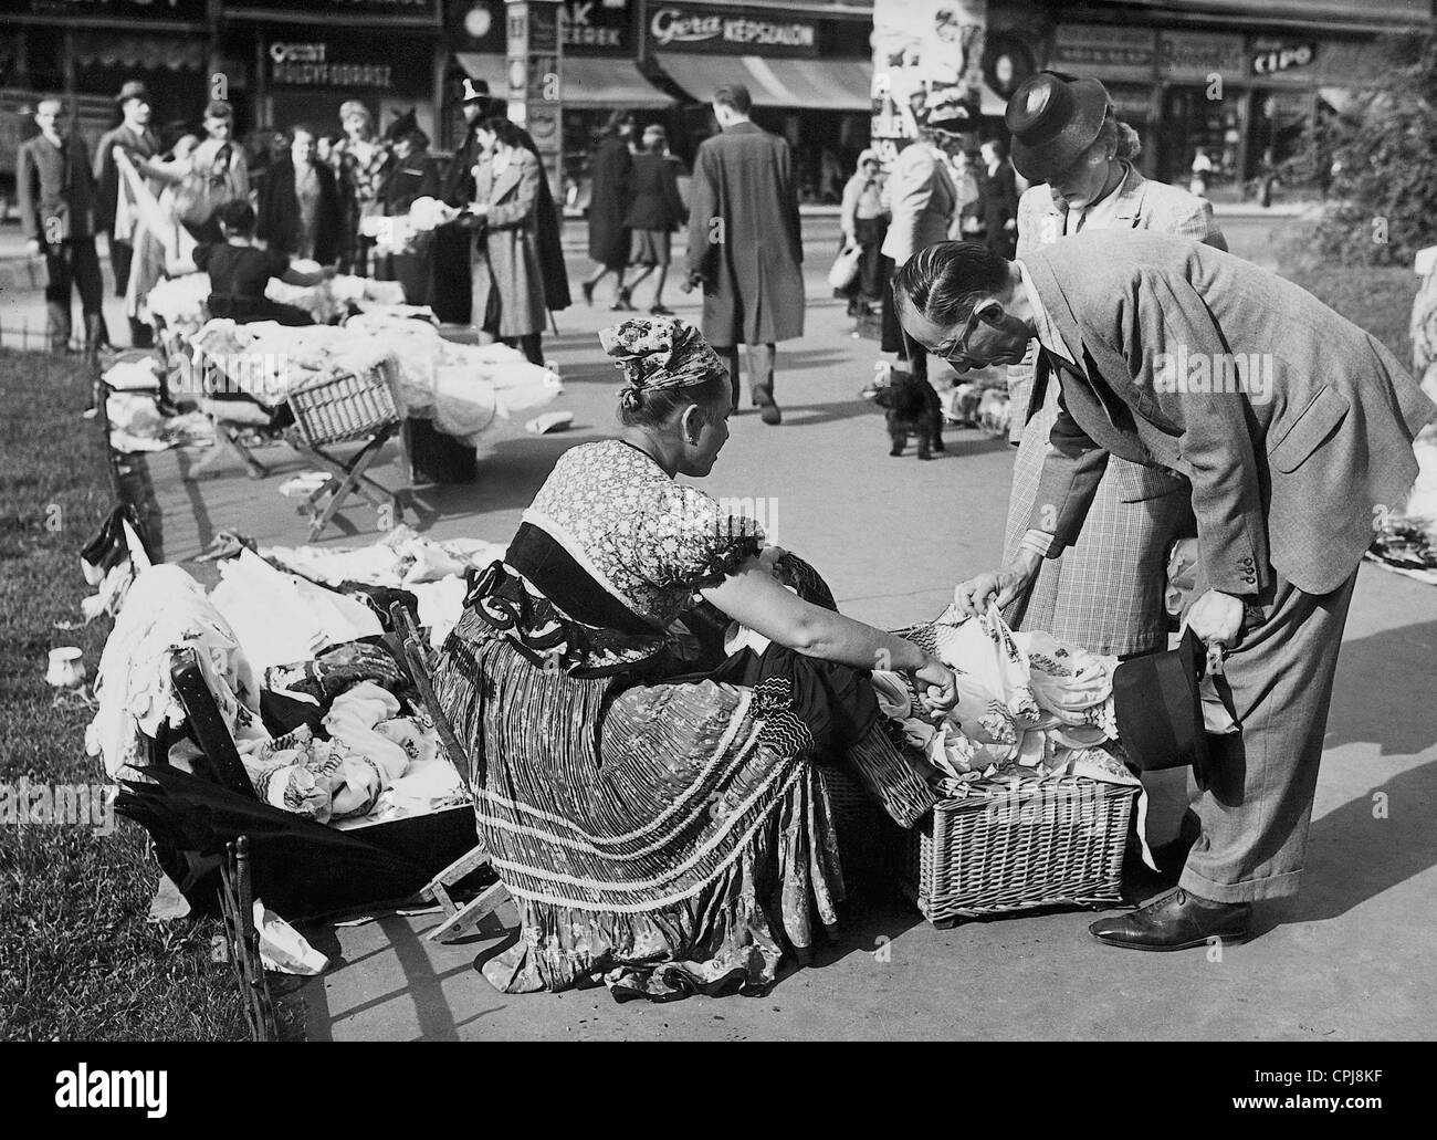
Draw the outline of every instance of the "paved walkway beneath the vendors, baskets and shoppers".
<instances>
[{"instance_id":1,"label":"paved walkway beneath the vendors, baskets and shoppers","mask_svg":"<svg viewBox=\"0 0 1437 1140\"><path fill-rule=\"evenodd\" d=\"M1253 256L1259 236L1249 234ZM881 414L858 400L877 358L848 335L828 298L822 250L809 246L808 335L780 346L785 424L752 413L706 489L763 500L773 536L831 581L845 612L898 625L938 612L960 578L999 556L1012 451L950 428L933 463L890 459ZM1237 243L1234 243L1237 244ZM578 263L576 263L578 266ZM647 292L638 300L647 306ZM693 318L697 303L671 292ZM565 375L556 407L575 413L562 436L499 446L471 486L420 496L433 536L506 541L565 449L614 427L618 374L595 331L612 315L582 305L559 315L546 351ZM302 467L286 449L276 472L249 480L234 463L184 483L194 461L152 456L170 561L194 558L221 528L262 543L297 545L303 520L277 484ZM376 477L397 484L389 456ZM354 539L369 542L374 512L355 506ZM928 927L897 893L861 900L842 942L769 998L615 1005L602 990L510 996L474 970L476 955L506 944L487 926L466 944L422 939L431 916L322 929L332 967L305 986L312 1038L1427 1038L1437 1019L1431 946L1437 940L1437 589L1364 566L1348 622L1313 812L1302 897L1289 921L1221 960L1203 953L1140 955L1086 934L1089 913ZM1173 796L1160 796L1171 824ZM502 911L500 919L504 919ZM512 919L512 916L507 916Z\"/></svg>"}]
</instances>

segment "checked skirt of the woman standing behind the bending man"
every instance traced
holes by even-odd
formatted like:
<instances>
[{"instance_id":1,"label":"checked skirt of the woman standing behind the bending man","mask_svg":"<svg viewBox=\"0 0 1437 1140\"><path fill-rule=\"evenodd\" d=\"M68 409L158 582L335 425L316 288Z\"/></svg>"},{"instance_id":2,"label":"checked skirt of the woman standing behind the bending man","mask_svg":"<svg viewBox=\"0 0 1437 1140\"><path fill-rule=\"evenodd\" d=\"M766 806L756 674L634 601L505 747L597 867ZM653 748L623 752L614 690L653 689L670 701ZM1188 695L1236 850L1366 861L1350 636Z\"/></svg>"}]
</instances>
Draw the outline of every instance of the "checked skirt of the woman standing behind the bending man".
<instances>
[{"instance_id":1,"label":"checked skirt of the woman standing behind the bending man","mask_svg":"<svg viewBox=\"0 0 1437 1140\"><path fill-rule=\"evenodd\" d=\"M1017 447L1004 565L1015 558L1038 499L1048 436L1058 418L1056 390L1050 382ZM1168 548L1196 533L1186 480L1109 456L1076 545L1061 558L1045 558L1032 592L1004 617L1015 630L1046 630L1094 653L1121 657L1165 650Z\"/></svg>"}]
</instances>

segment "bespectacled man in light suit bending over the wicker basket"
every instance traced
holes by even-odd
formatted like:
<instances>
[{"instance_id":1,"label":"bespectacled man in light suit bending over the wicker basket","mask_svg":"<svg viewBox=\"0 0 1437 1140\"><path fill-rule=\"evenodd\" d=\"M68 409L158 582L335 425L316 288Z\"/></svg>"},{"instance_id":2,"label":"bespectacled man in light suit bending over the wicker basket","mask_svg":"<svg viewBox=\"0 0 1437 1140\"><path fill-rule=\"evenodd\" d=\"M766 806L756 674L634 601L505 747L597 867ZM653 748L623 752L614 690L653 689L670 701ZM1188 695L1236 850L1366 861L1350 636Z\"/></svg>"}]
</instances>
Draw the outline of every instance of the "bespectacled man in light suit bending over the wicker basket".
<instances>
[{"instance_id":1,"label":"bespectacled man in light suit bending over the wicker basket","mask_svg":"<svg viewBox=\"0 0 1437 1140\"><path fill-rule=\"evenodd\" d=\"M1010 602L1082 541L1109 453L1191 484L1203 581L1186 621L1232 650L1219 693L1240 732L1211 737L1178 890L1092 933L1142 950L1250 937L1252 903L1298 890L1358 562L1437 407L1311 293L1183 237L1076 234L1019 262L946 242L894 290L931 352L1012 364L1036 338L1062 388L1019 553L960 584L960 610Z\"/></svg>"}]
</instances>

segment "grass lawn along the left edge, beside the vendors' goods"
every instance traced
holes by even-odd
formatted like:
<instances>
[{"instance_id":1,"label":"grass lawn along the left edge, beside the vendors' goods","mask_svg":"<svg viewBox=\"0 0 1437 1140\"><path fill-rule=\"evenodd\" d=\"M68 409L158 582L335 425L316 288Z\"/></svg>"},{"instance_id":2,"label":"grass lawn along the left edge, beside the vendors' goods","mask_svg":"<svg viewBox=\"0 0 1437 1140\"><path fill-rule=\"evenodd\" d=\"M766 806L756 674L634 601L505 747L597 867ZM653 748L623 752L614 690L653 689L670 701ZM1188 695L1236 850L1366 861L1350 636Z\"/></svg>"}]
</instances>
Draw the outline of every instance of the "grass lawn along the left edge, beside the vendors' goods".
<instances>
[{"instance_id":1,"label":"grass lawn along the left edge, beside the vendors' goods","mask_svg":"<svg viewBox=\"0 0 1437 1140\"><path fill-rule=\"evenodd\" d=\"M108 782L85 755L92 713L55 707L56 645L93 679L108 618L79 630L78 553L114 506L99 433L80 418L83 371L0 349L0 812L20 779ZM158 871L142 828L20 825L0 817L0 1038L233 1041L247 1029L217 920L145 921Z\"/></svg>"}]
</instances>

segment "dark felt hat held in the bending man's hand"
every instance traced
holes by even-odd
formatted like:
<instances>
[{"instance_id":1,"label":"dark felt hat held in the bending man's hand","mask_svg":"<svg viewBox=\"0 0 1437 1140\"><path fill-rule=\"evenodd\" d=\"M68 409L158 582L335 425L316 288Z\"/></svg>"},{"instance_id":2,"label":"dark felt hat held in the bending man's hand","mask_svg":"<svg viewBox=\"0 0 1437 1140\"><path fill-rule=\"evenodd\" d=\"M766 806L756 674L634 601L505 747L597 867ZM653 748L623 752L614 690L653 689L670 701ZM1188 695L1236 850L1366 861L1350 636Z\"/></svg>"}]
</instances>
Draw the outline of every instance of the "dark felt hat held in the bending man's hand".
<instances>
[{"instance_id":1,"label":"dark felt hat held in the bending man's hand","mask_svg":"<svg viewBox=\"0 0 1437 1140\"><path fill-rule=\"evenodd\" d=\"M1122 661L1112 673L1118 740L1144 772L1191 768L1209 785L1207 729L1198 684L1207 650L1188 628L1175 650Z\"/></svg>"}]
</instances>

